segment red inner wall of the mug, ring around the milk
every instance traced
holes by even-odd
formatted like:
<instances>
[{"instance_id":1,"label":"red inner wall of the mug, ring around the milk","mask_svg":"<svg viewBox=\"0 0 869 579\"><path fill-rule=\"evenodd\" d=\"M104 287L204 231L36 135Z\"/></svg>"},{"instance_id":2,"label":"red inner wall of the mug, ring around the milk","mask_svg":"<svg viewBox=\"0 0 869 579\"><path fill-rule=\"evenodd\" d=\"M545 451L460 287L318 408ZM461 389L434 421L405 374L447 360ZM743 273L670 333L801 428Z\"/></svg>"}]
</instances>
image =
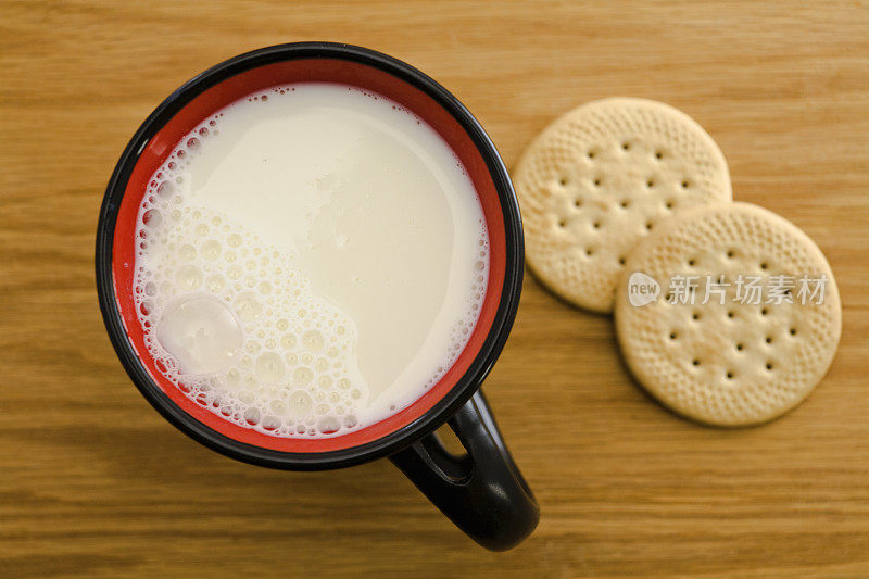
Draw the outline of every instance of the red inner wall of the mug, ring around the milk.
<instances>
[{"instance_id":1,"label":"red inner wall of the mug, ring around the milk","mask_svg":"<svg viewBox=\"0 0 869 579\"><path fill-rule=\"evenodd\" d=\"M416 113L452 148L470 176L489 234L489 284L480 315L465 349L446 374L410 406L374 425L330 438L278 438L226 420L187 398L158 369L144 344L135 310L136 223L149 179L180 139L203 119L251 92L293 83L339 83L387 97ZM414 423L446 395L465 375L495 319L506 275L506 234L498 190L471 137L432 97L390 73L349 60L299 59L257 66L226 78L187 102L141 150L118 207L112 247L114 294L127 337L160 389L185 413L239 442L292 453L350 449L373 442Z\"/></svg>"}]
</instances>

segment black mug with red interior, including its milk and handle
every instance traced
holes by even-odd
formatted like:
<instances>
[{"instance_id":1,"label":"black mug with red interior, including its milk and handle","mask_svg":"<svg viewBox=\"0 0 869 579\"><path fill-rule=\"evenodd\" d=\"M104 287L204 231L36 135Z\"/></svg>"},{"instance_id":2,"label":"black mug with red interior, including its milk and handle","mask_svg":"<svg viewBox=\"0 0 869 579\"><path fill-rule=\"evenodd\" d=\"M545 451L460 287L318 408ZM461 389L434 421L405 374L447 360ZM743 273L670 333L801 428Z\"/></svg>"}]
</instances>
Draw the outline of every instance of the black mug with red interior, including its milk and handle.
<instances>
[{"instance_id":1,"label":"black mug with red interior, including its milk and handle","mask_svg":"<svg viewBox=\"0 0 869 579\"><path fill-rule=\"evenodd\" d=\"M479 391L519 302L518 204L416 68L302 42L194 77L122 154L96 262L121 362L193 439L294 470L388 456L488 549L536 527Z\"/></svg>"}]
</instances>

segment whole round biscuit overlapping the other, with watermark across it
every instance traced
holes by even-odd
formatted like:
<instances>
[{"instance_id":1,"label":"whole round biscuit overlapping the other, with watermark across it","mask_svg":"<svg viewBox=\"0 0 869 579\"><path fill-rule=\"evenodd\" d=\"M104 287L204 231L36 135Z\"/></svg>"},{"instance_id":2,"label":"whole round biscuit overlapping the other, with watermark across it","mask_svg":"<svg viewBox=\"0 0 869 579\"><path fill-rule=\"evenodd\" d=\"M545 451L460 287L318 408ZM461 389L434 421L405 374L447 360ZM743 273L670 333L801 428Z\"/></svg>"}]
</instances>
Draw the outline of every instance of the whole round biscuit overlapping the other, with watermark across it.
<instances>
[{"instance_id":1,"label":"whole round biscuit overlapping the other, with watermark across it","mask_svg":"<svg viewBox=\"0 0 869 579\"><path fill-rule=\"evenodd\" d=\"M615 323L630 372L658 401L702 423L745 426L781 416L820 381L842 310L830 266L805 232L732 203L681 213L637 247Z\"/></svg>"}]
</instances>

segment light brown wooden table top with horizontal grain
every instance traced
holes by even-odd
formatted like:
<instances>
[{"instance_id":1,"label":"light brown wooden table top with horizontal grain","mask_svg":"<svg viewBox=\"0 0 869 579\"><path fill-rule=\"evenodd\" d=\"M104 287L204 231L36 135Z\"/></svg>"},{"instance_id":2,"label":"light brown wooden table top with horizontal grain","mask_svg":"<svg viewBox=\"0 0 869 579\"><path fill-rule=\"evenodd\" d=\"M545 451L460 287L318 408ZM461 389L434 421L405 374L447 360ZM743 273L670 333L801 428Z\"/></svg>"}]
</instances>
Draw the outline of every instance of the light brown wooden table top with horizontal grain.
<instances>
[{"instance_id":1,"label":"light brown wooden table top with horizontal grain","mask_svg":"<svg viewBox=\"0 0 869 579\"><path fill-rule=\"evenodd\" d=\"M186 79L311 39L426 71L509 166L591 99L682 109L721 146L735 197L793 221L830 259L844 332L829 375L770 425L696 426L630 379L609 318L527 278L486 391L543 517L502 554L387 461L272 471L176 431L103 330L103 188ZM0 47L0 575L869 575L865 2L2 0Z\"/></svg>"}]
</instances>

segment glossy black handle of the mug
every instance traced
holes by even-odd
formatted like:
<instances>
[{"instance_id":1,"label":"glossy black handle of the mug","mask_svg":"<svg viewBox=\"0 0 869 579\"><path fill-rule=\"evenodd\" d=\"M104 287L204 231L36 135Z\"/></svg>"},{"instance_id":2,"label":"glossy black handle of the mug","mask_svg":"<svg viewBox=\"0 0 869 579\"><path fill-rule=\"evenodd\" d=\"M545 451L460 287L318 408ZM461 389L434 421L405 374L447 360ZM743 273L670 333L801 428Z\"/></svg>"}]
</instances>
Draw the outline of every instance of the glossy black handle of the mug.
<instances>
[{"instance_id":1,"label":"glossy black handle of the mug","mask_svg":"<svg viewBox=\"0 0 869 579\"><path fill-rule=\"evenodd\" d=\"M436 432L390 461L456 527L486 549L506 551L537 527L540 507L477 391L448 421L467 450L456 456Z\"/></svg>"}]
</instances>

